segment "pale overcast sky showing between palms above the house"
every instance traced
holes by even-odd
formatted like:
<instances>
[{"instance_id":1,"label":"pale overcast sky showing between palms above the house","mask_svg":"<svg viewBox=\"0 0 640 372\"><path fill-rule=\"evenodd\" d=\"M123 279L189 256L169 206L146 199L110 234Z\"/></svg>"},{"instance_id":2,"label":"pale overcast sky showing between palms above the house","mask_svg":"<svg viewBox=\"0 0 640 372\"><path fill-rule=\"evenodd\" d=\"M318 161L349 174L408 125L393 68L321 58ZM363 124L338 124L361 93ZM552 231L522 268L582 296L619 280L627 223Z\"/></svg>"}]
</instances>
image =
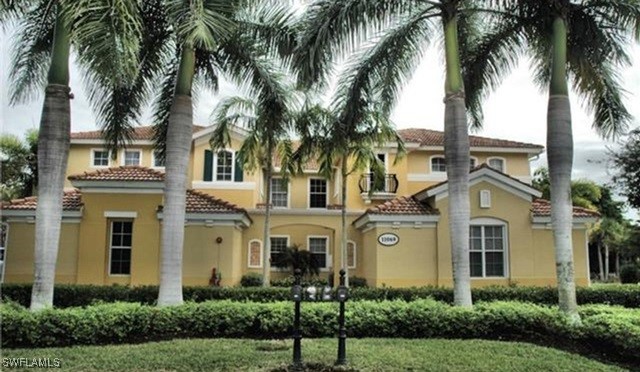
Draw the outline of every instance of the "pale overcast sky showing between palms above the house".
<instances>
[{"instance_id":1,"label":"pale overcast sky showing between palms above the house","mask_svg":"<svg viewBox=\"0 0 640 372\"><path fill-rule=\"evenodd\" d=\"M10 69L10 42L5 33L0 33L0 129L3 133L21 136L29 128L37 128L40 122L42 97L27 104L10 106L8 100L8 71ZM640 46L631 50L632 65L621 70L625 100L635 117L632 127L640 127ZM396 127L426 128L443 130L444 70L442 58L434 48L428 49L422 63L412 79L402 91L392 120ZM501 138L539 145L546 142L547 94L541 92L531 82L527 61L523 61L503 84L493 92L484 104L484 127L472 134ZM72 64L70 86L75 98L71 101L72 131L94 130L95 116L83 90L82 77ZM217 95L204 92L199 95L194 107L194 123L209 125L209 116L220 97L231 95L234 87L221 83ZM604 141L591 128L592 117L580 99L573 92L571 112L574 133L574 179L589 179L599 184L611 181L612 173L607 149L616 143ZM148 114L141 120L142 125L150 124ZM546 165L546 155L542 154L532 162L532 170ZM637 211L628 211L627 217L638 219Z\"/></svg>"}]
</instances>

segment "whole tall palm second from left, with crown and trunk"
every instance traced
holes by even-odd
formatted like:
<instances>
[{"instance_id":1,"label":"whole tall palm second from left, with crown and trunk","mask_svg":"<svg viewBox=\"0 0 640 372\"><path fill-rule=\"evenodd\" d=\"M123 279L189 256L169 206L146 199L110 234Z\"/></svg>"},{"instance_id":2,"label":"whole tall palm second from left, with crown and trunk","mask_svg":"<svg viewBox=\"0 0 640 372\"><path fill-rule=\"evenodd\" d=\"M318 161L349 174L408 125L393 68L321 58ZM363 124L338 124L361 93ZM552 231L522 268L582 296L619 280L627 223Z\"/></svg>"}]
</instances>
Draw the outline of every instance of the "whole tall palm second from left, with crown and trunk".
<instances>
[{"instance_id":1,"label":"whole tall palm second from left, with crown and trunk","mask_svg":"<svg viewBox=\"0 0 640 372\"><path fill-rule=\"evenodd\" d=\"M154 0L145 14L142 64L134 88L121 95L128 115L156 95L155 139L166 158L158 305L182 303L187 165L193 126L192 96L217 90L221 76L269 94L267 55L286 54L295 41L292 13L276 1ZM158 84L158 80L161 83ZM155 87L160 85L160 91ZM118 137L118 128L112 131Z\"/></svg>"}]
</instances>

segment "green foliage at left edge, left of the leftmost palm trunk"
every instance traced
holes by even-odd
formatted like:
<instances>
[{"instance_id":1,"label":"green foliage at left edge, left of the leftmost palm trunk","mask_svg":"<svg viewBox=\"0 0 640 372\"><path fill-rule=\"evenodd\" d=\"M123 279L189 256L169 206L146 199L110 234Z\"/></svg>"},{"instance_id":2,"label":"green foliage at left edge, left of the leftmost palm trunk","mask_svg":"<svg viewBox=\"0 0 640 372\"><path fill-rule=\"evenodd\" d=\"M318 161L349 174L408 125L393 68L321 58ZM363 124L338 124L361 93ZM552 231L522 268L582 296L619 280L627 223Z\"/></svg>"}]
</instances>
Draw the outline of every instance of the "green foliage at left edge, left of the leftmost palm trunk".
<instances>
[{"instance_id":1,"label":"green foliage at left edge, left of the leftmost palm trunk","mask_svg":"<svg viewBox=\"0 0 640 372\"><path fill-rule=\"evenodd\" d=\"M38 131L29 129L24 137L0 135L2 200L31 196L38 185Z\"/></svg>"}]
</instances>

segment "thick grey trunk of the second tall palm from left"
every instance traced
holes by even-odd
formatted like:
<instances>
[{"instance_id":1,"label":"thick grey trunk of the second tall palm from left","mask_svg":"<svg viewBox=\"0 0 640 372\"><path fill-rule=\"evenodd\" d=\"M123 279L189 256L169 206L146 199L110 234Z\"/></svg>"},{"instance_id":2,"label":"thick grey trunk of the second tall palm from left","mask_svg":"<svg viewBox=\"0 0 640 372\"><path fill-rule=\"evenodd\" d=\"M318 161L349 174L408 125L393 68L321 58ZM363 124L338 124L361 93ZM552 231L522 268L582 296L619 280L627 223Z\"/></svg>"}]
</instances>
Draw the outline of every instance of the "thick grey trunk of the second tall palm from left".
<instances>
[{"instance_id":1,"label":"thick grey trunk of the second tall palm from left","mask_svg":"<svg viewBox=\"0 0 640 372\"><path fill-rule=\"evenodd\" d=\"M191 83L194 71L195 53L192 48L184 46L167 128L159 306L180 305L183 302L182 250L187 168L193 134Z\"/></svg>"}]
</instances>

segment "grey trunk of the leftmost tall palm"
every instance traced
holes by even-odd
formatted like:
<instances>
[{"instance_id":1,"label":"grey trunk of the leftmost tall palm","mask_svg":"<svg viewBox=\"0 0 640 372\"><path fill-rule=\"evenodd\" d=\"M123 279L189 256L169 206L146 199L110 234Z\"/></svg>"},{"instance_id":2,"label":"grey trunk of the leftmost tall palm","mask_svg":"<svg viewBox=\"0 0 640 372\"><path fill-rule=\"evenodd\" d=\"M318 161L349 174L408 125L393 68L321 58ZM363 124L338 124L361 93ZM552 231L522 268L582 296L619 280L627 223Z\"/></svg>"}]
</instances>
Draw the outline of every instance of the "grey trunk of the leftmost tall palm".
<instances>
[{"instance_id":1,"label":"grey trunk of the leftmost tall palm","mask_svg":"<svg viewBox=\"0 0 640 372\"><path fill-rule=\"evenodd\" d=\"M53 306L53 286L62 224L64 174L69 157L69 32L58 16L38 136L38 206L31 310Z\"/></svg>"}]
</instances>

